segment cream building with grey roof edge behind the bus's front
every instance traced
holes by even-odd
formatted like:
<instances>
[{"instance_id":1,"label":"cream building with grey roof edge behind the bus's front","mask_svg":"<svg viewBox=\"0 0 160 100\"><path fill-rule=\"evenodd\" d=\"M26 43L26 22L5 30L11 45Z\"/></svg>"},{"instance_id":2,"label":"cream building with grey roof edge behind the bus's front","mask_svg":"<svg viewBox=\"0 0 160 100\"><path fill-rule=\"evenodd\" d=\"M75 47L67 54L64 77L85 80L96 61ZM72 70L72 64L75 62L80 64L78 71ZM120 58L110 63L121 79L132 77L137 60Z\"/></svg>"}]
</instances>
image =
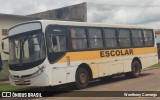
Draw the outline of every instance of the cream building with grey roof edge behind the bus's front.
<instances>
[{"instance_id":1,"label":"cream building with grey roof edge behind the bus's front","mask_svg":"<svg viewBox=\"0 0 160 100\"><path fill-rule=\"evenodd\" d=\"M24 21L29 21L29 20L35 20L35 18L31 17L26 17L26 16L19 16L19 15L9 15L9 14L0 14L0 40L8 36L8 29L12 27L13 25L24 22ZM0 41L0 52L2 51L2 41ZM4 52L9 52L9 47L8 47L8 39L5 39L3 41L3 51ZM3 60L8 59L8 54L2 53L1 56Z\"/></svg>"}]
</instances>

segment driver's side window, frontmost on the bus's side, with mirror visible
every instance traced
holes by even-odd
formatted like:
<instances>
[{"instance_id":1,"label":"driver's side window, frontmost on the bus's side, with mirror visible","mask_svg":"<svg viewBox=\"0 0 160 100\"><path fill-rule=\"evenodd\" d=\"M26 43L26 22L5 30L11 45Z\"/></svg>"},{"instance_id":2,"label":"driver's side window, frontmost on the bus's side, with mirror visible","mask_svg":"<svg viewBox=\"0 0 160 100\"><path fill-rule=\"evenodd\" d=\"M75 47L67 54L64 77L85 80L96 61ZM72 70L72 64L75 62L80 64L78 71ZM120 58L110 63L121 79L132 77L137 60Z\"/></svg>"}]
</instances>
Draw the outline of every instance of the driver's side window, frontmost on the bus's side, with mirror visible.
<instances>
[{"instance_id":1,"label":"driver's side window, frontmost on the bus's side, with mirror visible","mask_svg":"<svg viewBox=\"0 0 160 100\"><path fill-rule=\"evenodd\" d=\"M67 44L66 28L63 26L50 26L47 30L47 47L50 53L65 52Z\"/></svg>"}]
</instances>

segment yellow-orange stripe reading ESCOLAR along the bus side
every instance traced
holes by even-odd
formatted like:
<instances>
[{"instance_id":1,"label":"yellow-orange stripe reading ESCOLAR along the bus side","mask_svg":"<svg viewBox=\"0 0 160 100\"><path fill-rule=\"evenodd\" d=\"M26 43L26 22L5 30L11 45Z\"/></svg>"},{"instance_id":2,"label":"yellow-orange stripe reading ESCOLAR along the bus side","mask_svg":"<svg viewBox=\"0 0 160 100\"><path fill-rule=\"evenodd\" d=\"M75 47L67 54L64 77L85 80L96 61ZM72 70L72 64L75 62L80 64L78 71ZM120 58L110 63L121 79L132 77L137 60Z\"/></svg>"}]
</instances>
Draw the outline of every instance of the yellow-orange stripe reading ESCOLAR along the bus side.
<instances>
[{"instance_id":1,"label":"yellow-orange stripe reading ESCOLAR along the bus side","mask_svg":"<svg viewBox=\"0 0 160 100\"><path fill-rule=\"evenodd\" d=\"M104 57L112 58L120 56L136 56L153 53L157 53L157 49L155 47L68 52L57 63L66 62L68 57L70 58L70 61L81 61L94 60Z\"/></svg>"}]
</instances>

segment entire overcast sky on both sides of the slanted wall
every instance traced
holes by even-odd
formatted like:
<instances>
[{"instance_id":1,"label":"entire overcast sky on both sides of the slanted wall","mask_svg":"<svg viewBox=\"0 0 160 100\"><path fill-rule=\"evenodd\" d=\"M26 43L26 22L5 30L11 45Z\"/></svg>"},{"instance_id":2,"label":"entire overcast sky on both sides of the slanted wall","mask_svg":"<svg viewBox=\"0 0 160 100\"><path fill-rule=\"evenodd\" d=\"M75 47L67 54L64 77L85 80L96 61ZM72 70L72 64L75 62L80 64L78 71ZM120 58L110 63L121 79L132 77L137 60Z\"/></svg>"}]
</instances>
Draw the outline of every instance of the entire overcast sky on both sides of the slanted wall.
<instances>
[{"instance_id":1,"label":"entire overcast sky on both sides of the slanted wall","mask_svg":"<svg viewBox=\"0 0 160 100\"><path fill-rule=\"evenodd\" d=\"M87 2L87 20L160 28L160 0L0 0L0 13L28 15Z\"/></svg>"}]
</instances>

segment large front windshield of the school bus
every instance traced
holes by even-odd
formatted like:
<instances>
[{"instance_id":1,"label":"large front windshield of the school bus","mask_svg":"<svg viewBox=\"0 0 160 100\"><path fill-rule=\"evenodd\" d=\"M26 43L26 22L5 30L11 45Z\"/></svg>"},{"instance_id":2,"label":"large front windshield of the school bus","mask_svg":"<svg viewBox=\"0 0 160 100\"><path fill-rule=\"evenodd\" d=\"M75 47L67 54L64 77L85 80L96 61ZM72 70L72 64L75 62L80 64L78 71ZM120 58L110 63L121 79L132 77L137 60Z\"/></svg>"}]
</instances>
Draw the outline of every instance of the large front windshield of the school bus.
<instances>
[{"instance_id":1,"label":"large front windshield of the school bus","mask_svg":"<svg viewBox=\"0 0 160 100\"><path fill-rule=\"evenodd\" d=\"M22 65L45 58L44 37L41 30L9 37L9 64Z\"/></svg>"}]
</instances>

